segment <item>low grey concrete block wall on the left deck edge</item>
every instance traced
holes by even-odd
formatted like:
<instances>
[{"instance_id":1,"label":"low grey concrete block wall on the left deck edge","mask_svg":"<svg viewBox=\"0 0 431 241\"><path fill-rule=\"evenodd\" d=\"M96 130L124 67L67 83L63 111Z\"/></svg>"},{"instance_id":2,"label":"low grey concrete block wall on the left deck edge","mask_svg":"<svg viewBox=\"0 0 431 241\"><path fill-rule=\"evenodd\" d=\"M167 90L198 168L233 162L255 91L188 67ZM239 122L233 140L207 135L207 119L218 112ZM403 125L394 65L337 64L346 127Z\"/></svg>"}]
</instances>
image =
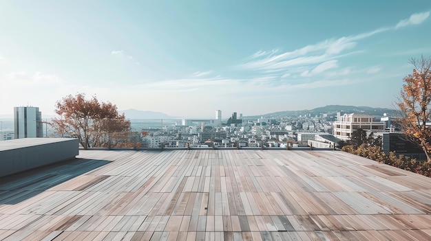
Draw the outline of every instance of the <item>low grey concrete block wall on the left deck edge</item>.
<instances>
[{"instance_id":1,"label":"low grey concrete block wall on the left deck edge","mask_svg":"<svg viewBox=\"0 0 431 241\"><path fill-rule=\"evenodd\" d=\"M0 176L73 159L79 154L78 139L24 138L0 141Z\"/></svg>"}]
</instances>

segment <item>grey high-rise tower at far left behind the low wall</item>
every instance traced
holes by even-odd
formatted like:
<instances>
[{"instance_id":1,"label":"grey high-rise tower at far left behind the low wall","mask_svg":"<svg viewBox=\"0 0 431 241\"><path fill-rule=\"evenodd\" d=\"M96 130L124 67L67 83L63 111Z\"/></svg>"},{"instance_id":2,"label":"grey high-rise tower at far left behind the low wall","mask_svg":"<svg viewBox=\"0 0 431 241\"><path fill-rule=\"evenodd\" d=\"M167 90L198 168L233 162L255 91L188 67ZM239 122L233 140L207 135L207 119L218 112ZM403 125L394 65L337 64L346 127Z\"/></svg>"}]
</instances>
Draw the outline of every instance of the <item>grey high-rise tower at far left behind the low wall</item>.
<instances>
[{"instance_id":1,"label":"grey high-rise tower at far left behind the low wall","mask_svg":"<svg viewBox=\"0 0 431 241\"><path fill-rule=\"evenodd\" d=\"M15 139L43 137L42 113L39 107L14 107Z\"/></svg>"}]
</instances>

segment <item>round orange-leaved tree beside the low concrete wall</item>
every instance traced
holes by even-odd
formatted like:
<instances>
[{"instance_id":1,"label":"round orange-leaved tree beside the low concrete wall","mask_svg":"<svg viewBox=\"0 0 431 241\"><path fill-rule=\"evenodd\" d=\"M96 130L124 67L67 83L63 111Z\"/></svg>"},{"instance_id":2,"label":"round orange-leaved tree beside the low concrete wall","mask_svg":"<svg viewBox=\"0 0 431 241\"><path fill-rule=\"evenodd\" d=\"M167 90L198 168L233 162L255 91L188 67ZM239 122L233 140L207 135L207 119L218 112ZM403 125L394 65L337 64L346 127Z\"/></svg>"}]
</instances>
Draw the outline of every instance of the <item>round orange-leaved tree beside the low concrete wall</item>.
<instances>
[{"instance_id":1,"label":"round orange-leaved tree beside the low concrete wall","mask_svg":"<svg viewBox=\"0 0 431 241\"><path fill-rule=\"evenodd\" d=\"M117 107L110 102L99 102L95 96L85 99L85 94L68 95L56 102L52 119L56 133L76 137L83 148L109 146L111 139L127 135L130 121L119 115Z\"/></svg>"}]
</instances>

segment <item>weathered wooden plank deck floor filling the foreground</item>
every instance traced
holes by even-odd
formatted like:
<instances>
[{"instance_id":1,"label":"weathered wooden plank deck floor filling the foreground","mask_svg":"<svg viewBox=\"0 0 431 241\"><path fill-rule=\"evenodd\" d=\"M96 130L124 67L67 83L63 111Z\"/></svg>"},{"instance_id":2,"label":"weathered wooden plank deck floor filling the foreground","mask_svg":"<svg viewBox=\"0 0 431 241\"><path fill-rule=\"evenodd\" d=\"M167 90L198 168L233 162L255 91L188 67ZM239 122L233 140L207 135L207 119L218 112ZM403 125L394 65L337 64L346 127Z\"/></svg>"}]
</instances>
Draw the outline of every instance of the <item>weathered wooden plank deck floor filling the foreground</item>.
<instances>
[{"instance_id":1,"label":"weathered wooden plank deck floor filling the foreground","mask_svg":"<svg viewBox=\"0 0 431 241\"><path fill-rule=\"evenodd\" d=\"M431 240L431 179L346 152L79 158L0 179L0 240Z\"/></svg>"}]
</instances>

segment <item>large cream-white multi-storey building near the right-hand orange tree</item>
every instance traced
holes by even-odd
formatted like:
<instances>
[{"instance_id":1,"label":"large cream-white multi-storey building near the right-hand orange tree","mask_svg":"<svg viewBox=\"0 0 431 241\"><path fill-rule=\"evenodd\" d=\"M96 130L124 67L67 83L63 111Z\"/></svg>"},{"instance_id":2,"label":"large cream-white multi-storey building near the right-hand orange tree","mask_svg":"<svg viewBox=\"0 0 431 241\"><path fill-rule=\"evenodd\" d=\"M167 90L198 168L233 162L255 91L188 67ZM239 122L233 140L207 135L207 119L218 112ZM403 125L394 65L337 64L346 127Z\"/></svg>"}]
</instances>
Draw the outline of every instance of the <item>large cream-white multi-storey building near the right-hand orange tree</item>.
<instances>
[{"instance_id":1,"label":"large cream-white multi-storey building near the right-hand orange tree","mask_svg":"<svg viewBox=\"0 0 431 241\"><path fill-rule=\"evenodd\" d=\"M367 132L383 131L386 127L385 122L377 122L372 115L362 113L337 115L337 122L334 122L335 137L347 141L353 131L361 128Z\"/></svg>"}]
</instances>

